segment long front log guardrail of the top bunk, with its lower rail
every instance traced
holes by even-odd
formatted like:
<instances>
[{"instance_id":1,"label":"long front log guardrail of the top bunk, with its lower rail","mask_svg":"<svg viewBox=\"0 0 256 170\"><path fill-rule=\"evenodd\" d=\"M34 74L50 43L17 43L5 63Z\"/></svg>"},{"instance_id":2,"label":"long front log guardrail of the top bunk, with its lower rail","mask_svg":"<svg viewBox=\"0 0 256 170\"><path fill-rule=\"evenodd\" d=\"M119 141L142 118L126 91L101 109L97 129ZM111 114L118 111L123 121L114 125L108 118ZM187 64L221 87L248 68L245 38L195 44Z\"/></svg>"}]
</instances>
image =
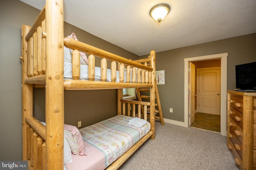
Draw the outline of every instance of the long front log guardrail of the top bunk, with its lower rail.
<instances>
[{"instance_id":1,"label":"long front log guardrail of the top bunk, with its lower rail","mask_svg":"<svg viewBox=\"0 0 256 170\"><path fill-rule=\"evenodd\" d=\"M101 62L101 81L104 82L101 84L97 82L97 88L105 89L104 84L106 82L106 75L107 75L107 60L111 61L111 82L108 82L106 88L128 88L129 86L146 86L152 87L152 72L153 68L152 65L148 66L150 61L154 61L154 51L152 51L153 55L149 56L148 59L138 60L138 61L131 61L129 59L120 57L118 55L109 53L102 49L98 49L86 43L82 43L80 41L76 41L74 39L65 37L64 38L64 45L70 49L73 49L72 52L72 77L74 80L78 80L80 78L80 54L79 51L82 51L89 55L88 57L88 78L90 82L81 82L81 81L74 81L74 80L67 80L64 82L64 88L66 90L76 90L80 88L83 89L94 89L94 67L95 67L95 57L100 57ZM150 59L152 58L152 60ZM141 62L144 61L144 64ZM118 65L117 65L118 63ZM116 82L116 69L119 70L119 81ZM127 70L132 70L127 71ZM126 83L124 83L124 72L126 72ZM132 77L132 78L131 78ZM112 83L112 84L111 84ZM132 84L129 84L132 83ZM86 84L86 86L85 86ZM82 88L84 86L84 88Z\"/></svg>"}]
</instances>

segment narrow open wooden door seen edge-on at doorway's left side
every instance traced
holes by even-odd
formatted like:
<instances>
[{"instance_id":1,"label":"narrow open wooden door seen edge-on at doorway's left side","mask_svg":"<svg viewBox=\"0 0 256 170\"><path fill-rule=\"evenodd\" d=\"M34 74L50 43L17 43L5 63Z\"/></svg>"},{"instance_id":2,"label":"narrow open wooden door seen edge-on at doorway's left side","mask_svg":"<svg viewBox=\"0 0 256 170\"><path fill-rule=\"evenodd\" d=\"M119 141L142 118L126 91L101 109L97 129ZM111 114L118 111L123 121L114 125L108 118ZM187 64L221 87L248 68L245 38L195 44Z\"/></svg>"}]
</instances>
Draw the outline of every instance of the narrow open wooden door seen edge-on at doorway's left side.
<instances>
[{"instance_id":1,"label":"narrow open wooden door seen edge-on at doorway's left side","mask_svg":"<svg viewBox=\"0 0 256 170\"><path fill-rule=\"evenodd\" d=\"M195 121L195 73L196 67L189 63L189 125Z\"/></svg>"}]
</instances>

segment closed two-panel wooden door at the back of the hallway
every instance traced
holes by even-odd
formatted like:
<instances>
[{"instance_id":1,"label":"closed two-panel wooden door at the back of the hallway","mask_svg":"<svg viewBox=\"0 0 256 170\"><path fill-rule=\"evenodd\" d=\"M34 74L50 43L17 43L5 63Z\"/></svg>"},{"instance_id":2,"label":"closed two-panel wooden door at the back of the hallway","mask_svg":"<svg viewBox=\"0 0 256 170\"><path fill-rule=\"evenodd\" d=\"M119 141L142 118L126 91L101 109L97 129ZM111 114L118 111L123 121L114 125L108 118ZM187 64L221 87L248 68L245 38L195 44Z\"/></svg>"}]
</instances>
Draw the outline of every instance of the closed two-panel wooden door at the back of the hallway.
<instances>
[{"instance_id":1,"label":"closed two-panel wooden door at the back of the hallway","mask_svg":"<svg viewBox=\"0 0 256 170\"><path fill-rule=\"evenodd\" d=\"M199 112L220 115L220 68L199 71Z\"/></svg>"}]
</instances>

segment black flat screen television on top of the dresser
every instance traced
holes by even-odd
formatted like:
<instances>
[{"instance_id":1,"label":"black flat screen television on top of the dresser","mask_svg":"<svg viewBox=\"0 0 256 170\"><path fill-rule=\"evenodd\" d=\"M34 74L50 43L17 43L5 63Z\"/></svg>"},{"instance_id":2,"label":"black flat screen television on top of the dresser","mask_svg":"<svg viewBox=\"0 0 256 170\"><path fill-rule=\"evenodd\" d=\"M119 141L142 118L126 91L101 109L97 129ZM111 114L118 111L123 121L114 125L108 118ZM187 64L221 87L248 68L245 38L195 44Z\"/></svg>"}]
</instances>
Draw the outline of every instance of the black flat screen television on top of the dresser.
<instances>
[{"instance_id":1,"label":"black flat screen television on top of the dresser","mask_svg":"<svg viewBox=\"0 0 256 170\"><path fill-rule=\"evenodd\" d=\"M236 88L256 92L256 62L236 65Z\"/></svg>"}]
</instances>

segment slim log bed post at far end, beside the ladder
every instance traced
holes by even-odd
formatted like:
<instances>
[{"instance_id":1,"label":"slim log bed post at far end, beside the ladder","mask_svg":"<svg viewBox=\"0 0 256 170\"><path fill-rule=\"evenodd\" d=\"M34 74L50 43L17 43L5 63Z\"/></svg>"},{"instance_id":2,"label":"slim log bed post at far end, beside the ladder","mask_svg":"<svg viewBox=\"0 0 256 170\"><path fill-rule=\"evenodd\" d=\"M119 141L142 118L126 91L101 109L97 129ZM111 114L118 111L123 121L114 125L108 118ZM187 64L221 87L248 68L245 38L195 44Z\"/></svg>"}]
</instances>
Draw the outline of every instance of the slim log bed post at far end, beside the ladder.
<instances>
[{"instance_id":1,"label":"slim log bed post at far end, beside the ladder","mask_svg":"<svg viewBox=\"0 0 256 170\"><path fill-rule=\"evenodd\" d=\"M150 64L153 68L153 71L151 72L151 83L153 84L153 87L150 88L150 124L151 124L151 131L153 132L150 139L155 139L155 102L156 102L156 52L154 50L150 51Z\"/></svg>"}]
</instances>

